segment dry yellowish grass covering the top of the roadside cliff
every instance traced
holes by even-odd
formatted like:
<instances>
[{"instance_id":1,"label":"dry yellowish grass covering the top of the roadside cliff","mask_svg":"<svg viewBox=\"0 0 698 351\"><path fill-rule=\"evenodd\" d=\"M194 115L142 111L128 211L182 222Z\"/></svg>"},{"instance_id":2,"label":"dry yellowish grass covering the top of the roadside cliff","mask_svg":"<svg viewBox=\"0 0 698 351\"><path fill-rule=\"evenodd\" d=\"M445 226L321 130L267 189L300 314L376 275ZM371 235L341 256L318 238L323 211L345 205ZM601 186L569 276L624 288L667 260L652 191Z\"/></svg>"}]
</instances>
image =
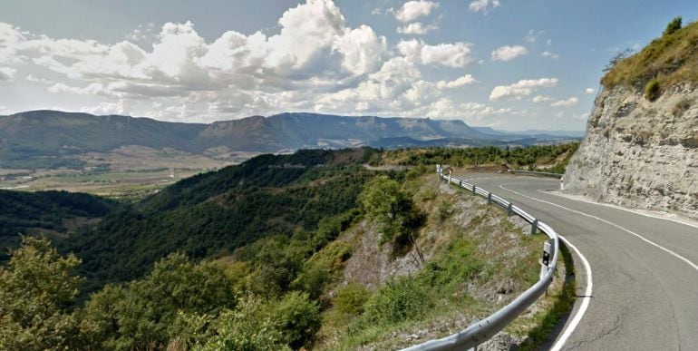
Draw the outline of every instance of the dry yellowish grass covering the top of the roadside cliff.
<instances>
[{"instance_id":1,"label":"dry yellowish grass covering the top of the roadside cliff","mask_svg":"<svg viewBox=\"0 0 698 351\"><path fill-rule=\"evenodd\" d=\"M639 53L616 63L601 79L606 88L642 88L656 79L661 89L682 82L698 82L698 23L654 39Z\"/></svg>"}]
</instances>

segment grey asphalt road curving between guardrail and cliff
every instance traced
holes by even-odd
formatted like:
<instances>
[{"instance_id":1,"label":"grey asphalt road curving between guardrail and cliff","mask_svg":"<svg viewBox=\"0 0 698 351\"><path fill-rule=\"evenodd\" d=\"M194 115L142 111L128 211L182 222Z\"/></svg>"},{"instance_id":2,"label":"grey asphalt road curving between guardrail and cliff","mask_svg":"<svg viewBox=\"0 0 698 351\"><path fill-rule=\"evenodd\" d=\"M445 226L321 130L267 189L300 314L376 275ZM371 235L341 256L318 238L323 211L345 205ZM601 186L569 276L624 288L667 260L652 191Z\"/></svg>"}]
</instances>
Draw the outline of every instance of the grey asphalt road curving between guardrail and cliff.
<instances>
[{"instance_id":1,"label":"grey asphalt road curving between guardrail and cliff","mask_svg":"<svg viewBox=\"0 0 698 351\"><path fill-rule=\"evenodd\" d=\"M577 256L578 298L566 329L585 299L587 309L562 349L698 350L698 228L561 197L546 191L559 188L555 179L454 176L519 205L587 258L593 289L585 296Z\"/></svg>"}]
</instances>

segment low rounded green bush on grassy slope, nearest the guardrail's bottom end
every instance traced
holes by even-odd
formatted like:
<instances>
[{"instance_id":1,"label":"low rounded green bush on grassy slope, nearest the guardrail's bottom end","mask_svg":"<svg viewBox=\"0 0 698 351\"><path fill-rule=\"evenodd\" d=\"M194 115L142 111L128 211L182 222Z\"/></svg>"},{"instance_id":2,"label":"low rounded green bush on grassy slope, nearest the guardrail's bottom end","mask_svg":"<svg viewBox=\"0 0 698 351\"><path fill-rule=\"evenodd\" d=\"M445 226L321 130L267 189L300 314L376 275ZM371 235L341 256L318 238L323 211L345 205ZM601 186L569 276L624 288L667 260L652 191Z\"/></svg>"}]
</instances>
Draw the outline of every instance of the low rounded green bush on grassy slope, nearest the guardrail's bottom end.
<instances>
[{"instance_id":1,"label":"low rounded green bush on grassy slope, nearest the guardrail's bottom end","mask_svg":"<svg viewBox=\"0 0 698 351\"><path fill-rule=\"evenodd\" d=\"M369 298L365 317L372 323L389 325L423 317L433 306L427 288L403 277L388 282Z\"/></svg>"}]
</instances>

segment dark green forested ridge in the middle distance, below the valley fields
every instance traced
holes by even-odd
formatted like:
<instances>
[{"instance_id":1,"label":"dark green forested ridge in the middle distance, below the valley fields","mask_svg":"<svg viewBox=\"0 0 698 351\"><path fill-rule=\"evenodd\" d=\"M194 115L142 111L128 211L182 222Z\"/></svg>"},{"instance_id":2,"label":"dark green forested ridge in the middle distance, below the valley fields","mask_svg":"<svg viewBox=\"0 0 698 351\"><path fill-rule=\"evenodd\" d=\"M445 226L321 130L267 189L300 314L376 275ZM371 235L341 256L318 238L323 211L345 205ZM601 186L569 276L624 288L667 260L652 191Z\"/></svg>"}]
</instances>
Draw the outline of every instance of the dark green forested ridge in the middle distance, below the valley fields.
<instances>
[{"instance_id":1,"label":"dark green forested ridge in the middle distance, below the valley fields","mask_svg":"<svg viewBox=\"0 0 698 351\"><path fill-rule=\"evenodd\" d=\"M141 277L170 252L220 257L257 239L314 229L356 207L372 149L263 155L179 181L59 242L89 287Z\"/></svg>"}]
</instances>

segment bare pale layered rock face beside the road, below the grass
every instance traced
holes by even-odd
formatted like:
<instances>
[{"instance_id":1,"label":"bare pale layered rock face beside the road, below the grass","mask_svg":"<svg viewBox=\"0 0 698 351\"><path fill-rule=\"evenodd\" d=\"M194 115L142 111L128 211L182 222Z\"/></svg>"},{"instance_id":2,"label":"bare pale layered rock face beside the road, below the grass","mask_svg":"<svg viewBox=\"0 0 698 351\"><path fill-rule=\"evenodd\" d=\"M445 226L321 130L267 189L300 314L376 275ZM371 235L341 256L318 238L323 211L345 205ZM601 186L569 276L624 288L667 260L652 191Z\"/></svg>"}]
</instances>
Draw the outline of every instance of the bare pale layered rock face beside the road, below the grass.
<instances>
[{"instance_id":1,"label":"bare pale layered rock face beside the road, below the grass","mask_svg":"<svg viewBox=\"0 0 698 351\"><path fill-rule=\"evenodd\" d=\"M569 193L698 219L698 85L654 102L624 86L599 93L564 180Z\"/></svg>"}]
</instances>

